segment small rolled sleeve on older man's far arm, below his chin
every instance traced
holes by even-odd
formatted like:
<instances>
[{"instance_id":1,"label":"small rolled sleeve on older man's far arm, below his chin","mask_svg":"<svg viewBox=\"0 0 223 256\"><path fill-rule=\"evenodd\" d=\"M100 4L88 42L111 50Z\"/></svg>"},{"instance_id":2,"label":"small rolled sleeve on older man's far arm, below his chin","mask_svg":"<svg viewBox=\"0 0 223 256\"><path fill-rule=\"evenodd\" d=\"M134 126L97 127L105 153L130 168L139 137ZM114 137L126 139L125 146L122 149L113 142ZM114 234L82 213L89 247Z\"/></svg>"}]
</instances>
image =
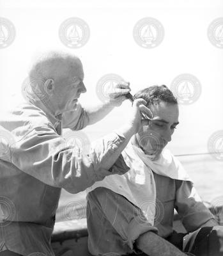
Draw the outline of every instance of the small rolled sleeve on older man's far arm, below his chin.
<instances>
[{"instance_id":1,"label":"small rolled sleeve on older man's far arm, below his chin","mask_svg":"<svg viewBox=\"0 0 223 256\"><path fill-rule=\"evenodd\" d=\"M78 103L76 108L72 111L63 113L62 125L63 128L70 128L72 131L78 131L84 129L89 124L88 113Z\"/></svg>"}]
</instances>

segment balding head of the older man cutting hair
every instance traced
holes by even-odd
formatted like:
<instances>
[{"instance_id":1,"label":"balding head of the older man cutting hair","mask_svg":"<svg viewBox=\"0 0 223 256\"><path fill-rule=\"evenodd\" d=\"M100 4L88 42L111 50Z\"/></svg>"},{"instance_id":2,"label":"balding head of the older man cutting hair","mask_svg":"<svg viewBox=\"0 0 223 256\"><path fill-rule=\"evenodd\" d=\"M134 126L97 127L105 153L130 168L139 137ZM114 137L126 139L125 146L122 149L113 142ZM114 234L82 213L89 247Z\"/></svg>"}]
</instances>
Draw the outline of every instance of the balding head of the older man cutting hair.
<instances>
[{"instance_id":1,"label":"balding head of the older man cutting hair","mask_svg":"<svg viewBox=\"0 0 223 256\"><path fill-rule=\"evenodd\" d=\"M75 108L81 93L86 92L83 79L81 60L58 51L38 56L29 71L33 96L47 99L44 101L55 113Z\"/></svg>"}]
</instances>

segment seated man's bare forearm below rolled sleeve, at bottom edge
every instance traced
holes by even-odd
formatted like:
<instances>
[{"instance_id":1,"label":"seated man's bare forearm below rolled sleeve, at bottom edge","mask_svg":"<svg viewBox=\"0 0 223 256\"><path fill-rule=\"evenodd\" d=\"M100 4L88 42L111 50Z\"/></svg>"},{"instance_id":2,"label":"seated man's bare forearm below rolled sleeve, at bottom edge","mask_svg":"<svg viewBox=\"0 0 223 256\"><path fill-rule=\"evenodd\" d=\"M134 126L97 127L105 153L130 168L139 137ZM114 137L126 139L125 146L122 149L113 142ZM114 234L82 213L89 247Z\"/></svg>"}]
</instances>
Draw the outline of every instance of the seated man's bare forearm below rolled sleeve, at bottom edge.
<instances>
[{"instance_id":1,"label":"seated man's bare forearm below rolled sleeve, at bottom edge","mask_svg":"<svg viewBox=\"0 0 223 256\"><path fill-rule=\"evenodd\" d=\"M154 232L146 232L139 236L136 246L150 256L185 256L185 253Z\"/></svg>"}]
</instances>

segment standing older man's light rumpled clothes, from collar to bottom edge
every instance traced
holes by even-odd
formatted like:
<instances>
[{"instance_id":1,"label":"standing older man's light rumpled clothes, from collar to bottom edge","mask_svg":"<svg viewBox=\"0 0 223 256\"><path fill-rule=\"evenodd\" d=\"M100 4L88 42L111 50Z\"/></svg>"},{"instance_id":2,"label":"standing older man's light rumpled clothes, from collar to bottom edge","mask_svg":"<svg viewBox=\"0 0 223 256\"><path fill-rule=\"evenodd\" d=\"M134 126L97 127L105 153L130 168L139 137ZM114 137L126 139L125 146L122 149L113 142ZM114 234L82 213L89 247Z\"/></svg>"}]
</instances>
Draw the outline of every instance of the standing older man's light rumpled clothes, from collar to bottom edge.
<instances>
[{"instance_id":1,"label":"standing older man's light rumpled clothes, from collar to bottom edge","mask_svg":"<svg viewBox=\"0 0 223 256\"><path fill-rule=\"evenodd\" d=\"M127 172L122 159L114 164L125 140L115 132L89 154L66 145L61 127L75 131L88 122L80 104L54 116L45 104L26 102L0 117L0 248L54 255L50 237L61 188L78 193L117 169Z\"/></svg>"}]
</instances>

